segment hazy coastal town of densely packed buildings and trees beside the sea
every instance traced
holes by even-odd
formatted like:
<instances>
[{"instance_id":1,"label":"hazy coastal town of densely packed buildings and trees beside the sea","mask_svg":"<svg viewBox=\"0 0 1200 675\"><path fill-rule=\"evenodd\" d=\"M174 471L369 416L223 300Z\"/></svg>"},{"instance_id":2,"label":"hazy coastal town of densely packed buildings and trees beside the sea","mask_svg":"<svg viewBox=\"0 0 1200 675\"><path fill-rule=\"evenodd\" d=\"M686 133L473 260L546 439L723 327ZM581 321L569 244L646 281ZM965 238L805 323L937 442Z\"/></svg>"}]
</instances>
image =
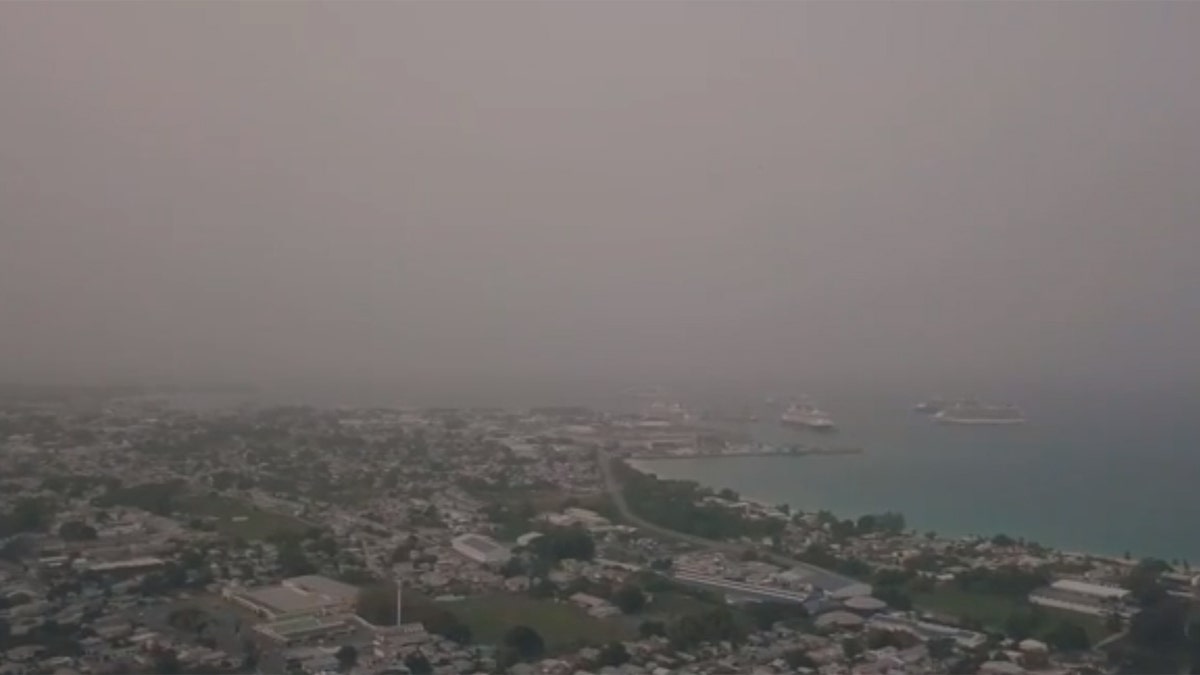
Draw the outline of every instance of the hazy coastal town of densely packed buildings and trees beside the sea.
<instances>
[{"instance_id":1,"label":"hazy coastal town of densely packed buildings and trees beside the sea","mask_svg":"<svg viewBox=\"0 0 1200 675\"><path fill-rule=\"evenodd\" d=\"M1200 665L1187 561L798 512L631 461L760 452L862 450L674 408L10 400L0 675Z\"/></svg>"}]
</instances>

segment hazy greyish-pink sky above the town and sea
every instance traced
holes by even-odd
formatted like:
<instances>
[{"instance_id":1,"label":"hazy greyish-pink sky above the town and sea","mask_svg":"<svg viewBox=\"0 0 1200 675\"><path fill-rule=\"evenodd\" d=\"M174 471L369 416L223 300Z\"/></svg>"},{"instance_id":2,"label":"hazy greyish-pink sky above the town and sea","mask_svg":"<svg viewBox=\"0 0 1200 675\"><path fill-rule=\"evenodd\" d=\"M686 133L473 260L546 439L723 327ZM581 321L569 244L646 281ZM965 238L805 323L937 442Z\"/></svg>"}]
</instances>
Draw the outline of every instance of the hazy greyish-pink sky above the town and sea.
<instances>
[{"instance_id":1,"label":"hazy greyish-pink sky above the town and sea","mask_svg":"<svg viewBox=\"0 0 1200 675\"><path fill-rule=\"evenodd\" d=\"M6 2L0 378L1198 377L1198 35Z\"/></svg>"}]
</instances>

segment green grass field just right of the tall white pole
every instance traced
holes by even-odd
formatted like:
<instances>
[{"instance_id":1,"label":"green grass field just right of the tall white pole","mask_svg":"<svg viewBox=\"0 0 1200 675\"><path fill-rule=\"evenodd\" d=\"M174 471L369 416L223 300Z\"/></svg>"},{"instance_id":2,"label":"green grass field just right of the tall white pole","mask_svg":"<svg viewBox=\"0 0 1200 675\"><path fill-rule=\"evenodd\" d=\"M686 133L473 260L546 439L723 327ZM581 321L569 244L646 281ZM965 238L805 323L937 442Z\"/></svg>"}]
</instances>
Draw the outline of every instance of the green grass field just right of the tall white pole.
<instances>
[{"instance_id":1,"label":"green grass field just right of the tall white pole","mask_svg":"<svg viewBox=\"0 0 1200 675\"><path fill-rule=\"evenodd\" d=\"M572 604L551 599L496 595L439 604L470 627L476 643L498 643L514 626L536 631L551 652L581 643L604 644L632 637L619 617L596 619Z\"/></svg>"}]
</instances>

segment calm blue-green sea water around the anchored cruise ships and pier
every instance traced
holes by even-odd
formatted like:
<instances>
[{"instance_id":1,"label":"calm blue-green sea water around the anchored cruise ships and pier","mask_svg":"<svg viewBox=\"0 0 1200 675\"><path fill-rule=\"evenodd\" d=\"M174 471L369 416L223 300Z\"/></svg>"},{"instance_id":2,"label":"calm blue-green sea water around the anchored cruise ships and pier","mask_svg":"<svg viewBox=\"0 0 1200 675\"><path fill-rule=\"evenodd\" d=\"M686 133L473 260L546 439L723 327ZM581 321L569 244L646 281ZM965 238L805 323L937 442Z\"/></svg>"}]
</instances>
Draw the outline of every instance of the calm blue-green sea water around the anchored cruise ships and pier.
<instances>
[{"instance_id":1,"label":"calm blue-green sea water around the anchored cruise ships and pier","mask_svg":"<svg viewBox=\"0 0 1200 675\"><path fill-rule=\"evenodd\" d=\"M1200 563L1200 396L1154 390L1010 398L1021 426L946 426L896 396L822 399L833 435L773 422L768 442L859 446L862 455L647 460L666 478L840 516L899 510L943 534L1008 533L1064 550ZM778 414L778 413L775 413Z\"/></svg>"}]
</instances>

